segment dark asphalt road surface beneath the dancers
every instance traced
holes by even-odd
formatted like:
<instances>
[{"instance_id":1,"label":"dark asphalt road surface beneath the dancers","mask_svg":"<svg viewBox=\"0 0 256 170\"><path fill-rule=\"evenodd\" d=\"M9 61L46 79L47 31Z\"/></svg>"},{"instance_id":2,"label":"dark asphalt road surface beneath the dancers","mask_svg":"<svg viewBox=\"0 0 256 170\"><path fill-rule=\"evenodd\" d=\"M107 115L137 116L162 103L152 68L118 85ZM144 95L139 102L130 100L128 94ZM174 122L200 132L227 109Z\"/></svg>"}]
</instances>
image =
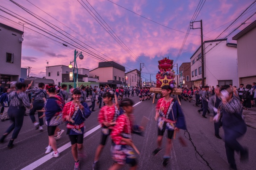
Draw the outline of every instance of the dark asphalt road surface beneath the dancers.
<instances>
[{"instance_id":1,"label":"dark asphalt road surface beneath the dancers","mask_svg":"<svg viewBox=\"0 0 256 170\"><path fill-rule=\"evenodd\" d=\"M131 97L135 103L139 102L136 96ZM155 101L155 103L157 100ZM157 156L152 156L152 151L157 147L157 127L154 121L155 103L150 101L140 102L135 106L134 115L136 116L137 124L140 124L143 116L148 117L147 128L145 136L133 135L134 144L140 150L141 155L137 156L139 170L228 170L229 165L225 154L224 142L214 136L213 123L209 121L212 114L207 114L208 119L204 119L198 114L198 108L192 103L182 101L181 107L185 114L186 125L188 132L180 130L176 138L183 137L187 147L183 147L178 139L173 140L173 148L171 159L168 167L161 166L162 156L164 151L161 151ZM88 103L90 105L90 103ZM90 170L94 158L96 147L101 138L101 131L98 129L97 116L99 108L96 106L96 112L86 120L86 137L84 138L84 149L86 158L80 162L81 170ZM36 115L37 116L37 115ZM10 121L0 122L0 134L3 134L9 127ZM36 170L72 170L74 160L71 154L70 140L68 136L63 133L61 139L57 141L60 157L51 158L45 154L45 147L48 146L48 136L46 126L44 125L44 132L39 132L34 129L29 116L24 119L23 127L18 138L15 140L11 150L8 149L7 144L11 139L9 135L6 143L0 145L0 169L1 170L20 170L33 169ZM60 125L61 129L66 130L65 125ZM97 129L97 130L96 130ZM89 134L90 133L90 134ZM220 129L220 136L223 137L223 130ZM239 155L236 154L236 161L238 169L253 170L256 167L256 129L247 127L247 133L240 140L241 144L249 148L249 162L240 163ZM163 146L166 143L166 136L163 140ZM105 146L100 157L101 170L107 170L113 160L110 154L111 141ZM30 166L30 167L29 167ZM128 165L122 168L129 169Z\"/></svg>"}]
</instances>

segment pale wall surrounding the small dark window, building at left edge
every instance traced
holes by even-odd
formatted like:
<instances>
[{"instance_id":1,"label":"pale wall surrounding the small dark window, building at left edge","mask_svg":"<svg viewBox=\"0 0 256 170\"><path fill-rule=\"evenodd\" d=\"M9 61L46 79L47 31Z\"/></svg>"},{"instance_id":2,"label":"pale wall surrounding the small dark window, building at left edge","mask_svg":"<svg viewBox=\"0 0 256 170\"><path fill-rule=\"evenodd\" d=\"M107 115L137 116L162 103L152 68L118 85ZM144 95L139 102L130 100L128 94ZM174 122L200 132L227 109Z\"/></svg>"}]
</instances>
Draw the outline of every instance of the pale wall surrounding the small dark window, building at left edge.
<instances>
[{"instance_id":1,"label":"pale wall surrounding the small dark window, building at left edge","mask_svg":"<svg viewBox=\"0 0 256 170\"><path fill-rule=\"evenodd\" d=\"M11 81L18 81L21 72L21 46L19 38L22 34L0 27L0 74L13 75ZM15 34L15 35L12 35ZM25 39L25 41L28 41ZM6 62L6 53L14 54L13 63Z\"/></svg>"}]
</instances>

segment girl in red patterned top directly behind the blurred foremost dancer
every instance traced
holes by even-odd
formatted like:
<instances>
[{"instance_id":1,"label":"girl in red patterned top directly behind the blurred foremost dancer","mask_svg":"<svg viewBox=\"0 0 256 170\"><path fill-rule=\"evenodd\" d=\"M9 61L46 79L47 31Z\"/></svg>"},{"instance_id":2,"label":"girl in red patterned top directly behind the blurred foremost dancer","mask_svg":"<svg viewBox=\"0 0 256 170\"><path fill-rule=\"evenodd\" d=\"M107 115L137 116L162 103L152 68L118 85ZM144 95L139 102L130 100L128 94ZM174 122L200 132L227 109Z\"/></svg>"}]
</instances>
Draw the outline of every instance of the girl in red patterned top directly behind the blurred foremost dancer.
<instances>
[{"instance_id":1,"label":"girl in red patterned top directly behind the blurred foremost dancer","mask_svg":"<svg viewBox=\"0 0 256 170\"><path fill-rule=\"evenodd\" d=\"M99 169L99 156L105 147L108 136L113 130L113 125L116 123L117 116L120 115L119 105L113 104L112 99L114 97L114 92L109 91L103 94L103 101L105 106L99 111L98 121L102 125L102 139L99 146L96 149L95 158L93 160L93 170Z\"/></svg>"}]
</instances>

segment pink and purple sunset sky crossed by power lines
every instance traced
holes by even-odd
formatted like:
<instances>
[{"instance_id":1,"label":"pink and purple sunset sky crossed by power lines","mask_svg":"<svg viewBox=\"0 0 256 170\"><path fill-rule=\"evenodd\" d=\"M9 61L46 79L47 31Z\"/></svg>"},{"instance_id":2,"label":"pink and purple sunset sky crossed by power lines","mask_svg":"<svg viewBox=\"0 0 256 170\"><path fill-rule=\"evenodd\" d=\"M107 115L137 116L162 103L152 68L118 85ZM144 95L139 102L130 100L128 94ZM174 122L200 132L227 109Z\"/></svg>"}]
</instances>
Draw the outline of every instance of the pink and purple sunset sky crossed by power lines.
<instances>
[{"instance_id":1,"label":"pink and purple sunset sky crossed by power lines","mask_svg":"<svg viewBox=\"0 0 256 170\"><path fill-rule=\"evenodd\" d=\"M21 66L31 66L31 76L46 76L46 61L49 61L49 66L69 65L70 61L74 59L74 50L80 48L84 59L78 59L77 65L81 65L81 68L93 69L98 66L99 62L113 60L124 65L126 70L129 71L135 68L139 70L140 62L143 62L146 66L143 68L143 81L145 81L145 78L149 79L149 74L146 73L155 74L158 71L157 61L162 57L169 57L174 61L177 59L189 22L198 4L201 4L201 6L204 4L195 19L196 21L203 20L204 40L215 40L233 20L239 17L254 2L254 0L111 0L111 2L119 5L117 6L108 0L13 1L44 22L10 0L1 1L0 9L34 26L38 25L36 27L55 35L55 37L52 37L52 35L29 24L24 25ZM0 23L19 30L23 29L18 22L24 23L24 21L3 11L0 11ZM120 38L119 42L130 50L129 53L92 17L92 11L102 23L108 24ZM241 19L218 39L227 36L255 11L256 5L253 4ZM236 43L232 40L232 37L254 20L256 20L256 15L231 34L227 42ZM115 35L114 33L113 35ZM176 62L178 67L182 62L190 62L189 58L201 45L200 34L200 29L190 30L182 53ZM86 48L94 56L85 53ZM152 79L154 77L155 75L151 76Z\"/></svg>"}]
</instances>

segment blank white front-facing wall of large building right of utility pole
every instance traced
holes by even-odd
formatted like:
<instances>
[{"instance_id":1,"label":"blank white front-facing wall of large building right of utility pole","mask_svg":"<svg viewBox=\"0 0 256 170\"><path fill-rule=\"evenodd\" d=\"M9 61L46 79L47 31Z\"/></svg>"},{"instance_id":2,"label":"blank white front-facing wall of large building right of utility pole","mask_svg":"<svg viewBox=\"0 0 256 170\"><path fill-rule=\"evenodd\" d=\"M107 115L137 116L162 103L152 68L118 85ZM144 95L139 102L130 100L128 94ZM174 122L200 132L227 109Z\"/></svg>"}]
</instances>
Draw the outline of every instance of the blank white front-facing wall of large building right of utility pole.
<instances>
[{"instance_id":1,"label":"blank white front-facing wall of large building right of utility pole","mask_svg":"<svg viewBox=\"0 0 256 170\"><path fill-rule=\"evenodd\" d=\"M233 86L239 87L237 69L237 48L226 45L226 41L218 46L206 49L206 85L218 85L219 80L232 80ZM209 43L206 43L206 47Z\"/></svg>"}]
</instances>

